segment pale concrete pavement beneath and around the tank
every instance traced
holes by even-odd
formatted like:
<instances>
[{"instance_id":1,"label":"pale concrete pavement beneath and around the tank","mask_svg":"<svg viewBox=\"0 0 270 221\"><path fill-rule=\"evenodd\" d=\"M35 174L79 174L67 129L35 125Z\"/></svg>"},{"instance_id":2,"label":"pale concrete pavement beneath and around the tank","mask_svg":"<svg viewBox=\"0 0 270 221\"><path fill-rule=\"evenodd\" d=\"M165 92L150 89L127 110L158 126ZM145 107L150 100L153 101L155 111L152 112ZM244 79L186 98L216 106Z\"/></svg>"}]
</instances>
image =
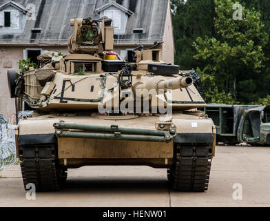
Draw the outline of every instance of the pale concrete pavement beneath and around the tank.
<instances>
[{"instance_id":1,"label":"pale concrete pavement beneath and around the tank","mask_svg":"<svg viewBox=\"0 0 270 221\"><path fill-rule=\"evenodd\" d=\"M148 166L69 169L65 189L36 200L26 200L19 166L0 177L0 206L270 206L267 147L217 146L205 193L169 191L166 170ZM233 200L236 183L242 200Z\"/></svg>"}]
</instances>

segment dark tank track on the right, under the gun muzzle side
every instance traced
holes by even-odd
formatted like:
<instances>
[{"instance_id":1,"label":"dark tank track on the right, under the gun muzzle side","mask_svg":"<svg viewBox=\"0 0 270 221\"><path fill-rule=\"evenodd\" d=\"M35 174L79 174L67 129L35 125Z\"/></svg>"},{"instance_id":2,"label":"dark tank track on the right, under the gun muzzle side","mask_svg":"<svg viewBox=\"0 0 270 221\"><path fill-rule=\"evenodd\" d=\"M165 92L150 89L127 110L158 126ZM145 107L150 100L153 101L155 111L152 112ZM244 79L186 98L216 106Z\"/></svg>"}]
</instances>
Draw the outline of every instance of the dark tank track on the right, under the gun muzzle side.
<instances>
[{"instance_id":1,"label":"dark tank track on the right, under the gun muzzle side","mask_svg":"<svg viewBox=\"0 0 270 221\"><path fill-rule=\"evenodd\" d=\"M170 187L176 191L207 191L211 159L206 144L175 144L174 164L167 170Z\"/></svg>"}]
</instances>

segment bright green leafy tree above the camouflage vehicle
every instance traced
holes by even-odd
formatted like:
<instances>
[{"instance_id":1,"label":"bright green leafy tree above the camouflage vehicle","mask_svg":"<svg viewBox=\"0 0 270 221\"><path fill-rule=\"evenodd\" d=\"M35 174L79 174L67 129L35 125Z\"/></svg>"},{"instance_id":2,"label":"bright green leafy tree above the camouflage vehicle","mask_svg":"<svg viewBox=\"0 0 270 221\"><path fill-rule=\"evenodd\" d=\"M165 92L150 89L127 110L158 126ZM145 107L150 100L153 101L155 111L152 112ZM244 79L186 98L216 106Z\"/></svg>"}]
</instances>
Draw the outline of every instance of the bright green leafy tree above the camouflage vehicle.
<instances>
[{"instance_id":1,"label":"bright green leafy tree above the camouflage vehicle","mask_svg":"<svg viewBox=\"0 0 270 221\"><path fill-rule=\"evenodd\" d=\"M233 5L238 2L215 0L215 3L215 36L198 37L194 42L197 52L194 58L202 64L198 70L211 76L208 84L218 90L206 100L228 103L226 95L229 99L233 95L233 99L240 102L253 102L258 99L258 88L253 79L263 78L262 68L267 60L263 49L269 42L260 12L243 6L242 20L234 20ZM206 84L205 79L203 83ZM209 86L204 90L205 94L210 93ZM231 101L235 102L233 99Z\"/></svg>"}]
</instances>

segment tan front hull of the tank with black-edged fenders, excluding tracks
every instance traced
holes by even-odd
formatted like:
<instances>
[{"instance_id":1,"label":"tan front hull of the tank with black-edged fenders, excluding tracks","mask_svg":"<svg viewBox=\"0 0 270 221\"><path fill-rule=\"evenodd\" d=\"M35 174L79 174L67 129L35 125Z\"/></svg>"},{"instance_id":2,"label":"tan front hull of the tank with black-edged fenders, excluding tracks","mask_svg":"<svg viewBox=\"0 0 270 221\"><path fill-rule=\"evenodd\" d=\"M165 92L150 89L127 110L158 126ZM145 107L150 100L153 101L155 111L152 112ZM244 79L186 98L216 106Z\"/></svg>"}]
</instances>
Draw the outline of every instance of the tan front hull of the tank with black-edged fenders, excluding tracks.
<instances>
[{"instance_id":1,"label":"tan front hull of the tank with black-edged fenders, excluding tracks","mask_svg":"<svg viewBox=\"0 0 270 221\"><path fill-rule=\"evenodd\" d=\"M127 117L128 118L128 117ZM131 117L132 118L132 117ZM19 122L18 146L53 143L58 146L57 158L59 163L67 167L79 167L85 165L102 164L146 164L149 166L165 168L172 164L174 158L174 144L205 143L214 149L213 123L210 119L200 119L195 115L176 113L172 122L176 126L176 136L172 140L155 140L151 135L139 135L129 133L129 137L80 137L77 135L57 137L54 124L65 122L65 124L98 126L117 125L120 128L132 128L140 131L157 131L156 122L160 122L156 116L134 117L133 119L108 119L102 115L92 116L59 116L57 114L42 115L23 119ZM71 130L66 130L71 131ZM76 128L75 130L76 131ZM92 131L83 135L110 135L108 132ZM75 133L76 134L76 133ZM132 136L134 138L132 138ZM146 137L140 140L140 137ZM18 152L19 153L19 152Z\"/></svg>"}]
</instances>

